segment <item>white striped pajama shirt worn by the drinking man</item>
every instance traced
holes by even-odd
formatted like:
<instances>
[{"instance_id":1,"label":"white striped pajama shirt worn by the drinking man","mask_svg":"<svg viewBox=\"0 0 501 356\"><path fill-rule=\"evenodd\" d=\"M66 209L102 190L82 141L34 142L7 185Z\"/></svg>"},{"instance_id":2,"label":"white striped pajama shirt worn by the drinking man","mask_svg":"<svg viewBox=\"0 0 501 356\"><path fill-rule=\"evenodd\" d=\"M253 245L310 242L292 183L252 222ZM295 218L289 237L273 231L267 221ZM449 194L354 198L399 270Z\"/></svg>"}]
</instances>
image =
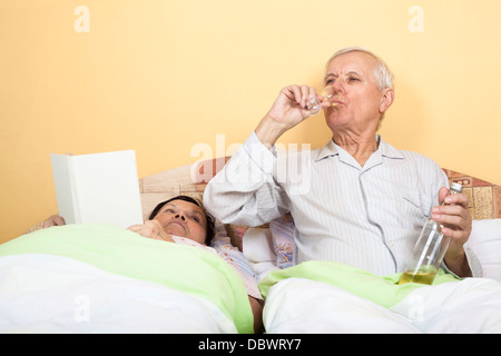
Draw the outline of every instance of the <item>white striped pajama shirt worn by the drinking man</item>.
<instances>
[{"instance_id":1,"label":"white striped pajama shirt worn by the drinking man","mask_svg":"<svg viewBox=\"0 0 501 356\"><path fill-rule=\"evenodd\" d=\"M294 263L331 260L377 275L403 271L441 187L430 158L380 136L363 167L332 140L316 150L268 150L253 132L208 184L204 205L225 224L258 226L291 212ZM473 275L481 274L465 248Z\"/></svg>"}]
</instances>

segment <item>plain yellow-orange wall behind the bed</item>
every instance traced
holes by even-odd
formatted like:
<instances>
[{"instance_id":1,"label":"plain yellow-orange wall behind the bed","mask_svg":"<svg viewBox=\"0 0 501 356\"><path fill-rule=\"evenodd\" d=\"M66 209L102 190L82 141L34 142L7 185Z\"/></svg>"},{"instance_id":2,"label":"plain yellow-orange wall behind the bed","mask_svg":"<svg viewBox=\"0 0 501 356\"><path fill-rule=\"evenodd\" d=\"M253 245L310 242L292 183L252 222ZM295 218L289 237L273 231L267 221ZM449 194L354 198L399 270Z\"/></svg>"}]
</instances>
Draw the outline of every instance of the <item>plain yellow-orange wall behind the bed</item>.
<instances>
[{"instance_id":1,"label":"plain yellow-orange wall behind the bed","mask_svg":"<svg viewBox=\"0 0 501 356\"><path fill-rule=\"evenodd\" d=\"M353 44L396 77L389 142L501 184L500 14L497 0L1 0L0 241L57 211L50 152L135 149L141 177L194 162L197 144L217 155L216 135L243 142L282 87L320 86ZM282 141L328 137L315 117Z\"/></svg>"}]
</instances>

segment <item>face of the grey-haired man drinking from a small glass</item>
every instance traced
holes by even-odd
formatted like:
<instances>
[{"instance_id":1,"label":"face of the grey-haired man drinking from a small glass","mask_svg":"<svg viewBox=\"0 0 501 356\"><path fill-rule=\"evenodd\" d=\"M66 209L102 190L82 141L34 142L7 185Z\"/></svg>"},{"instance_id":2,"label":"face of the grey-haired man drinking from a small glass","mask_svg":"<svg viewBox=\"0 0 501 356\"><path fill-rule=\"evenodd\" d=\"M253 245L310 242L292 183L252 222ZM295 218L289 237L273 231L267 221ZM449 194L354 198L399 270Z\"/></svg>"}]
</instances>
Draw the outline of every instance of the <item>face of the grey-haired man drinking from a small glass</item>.
<instances>
[{"instance_id":1,"label":"face of the grey-haired man drinking from a small glass","mask_svg":"<svg viewBox=\"0 0 501 356\"><path fill-rule=\"evenodd\" d=\"M332 131L343 129L376 131L381 115L390 107L387 90L380 90L374 78L376 60L364 52L348 52L327 66L324 85L333 92L335 107L325 109L325 119ZM392 96L393 99L393 96Z\"/></svg>"}]
</instances>

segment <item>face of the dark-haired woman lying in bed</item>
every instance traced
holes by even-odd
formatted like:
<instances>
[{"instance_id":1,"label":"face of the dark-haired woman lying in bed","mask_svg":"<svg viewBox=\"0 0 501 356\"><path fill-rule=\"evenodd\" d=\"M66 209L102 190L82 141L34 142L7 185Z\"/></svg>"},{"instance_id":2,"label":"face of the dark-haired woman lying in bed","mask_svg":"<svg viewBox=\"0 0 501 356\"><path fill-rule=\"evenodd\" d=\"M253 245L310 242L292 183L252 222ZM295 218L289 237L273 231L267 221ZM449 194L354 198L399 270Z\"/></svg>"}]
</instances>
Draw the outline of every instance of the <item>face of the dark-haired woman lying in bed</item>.
<instances>
[{"instance_id":1,"label":"face of the dark-haired woman lying in bed","mask_svg":"<svg viewBox=\"0 0 501 356\"><path fill-rule=\"evenodd\" d=\"M207 218L197 205L173 200L163 206L154 219L161 224L167 234L186 237L205 245Z\"/></svg>"}]
</instances>

